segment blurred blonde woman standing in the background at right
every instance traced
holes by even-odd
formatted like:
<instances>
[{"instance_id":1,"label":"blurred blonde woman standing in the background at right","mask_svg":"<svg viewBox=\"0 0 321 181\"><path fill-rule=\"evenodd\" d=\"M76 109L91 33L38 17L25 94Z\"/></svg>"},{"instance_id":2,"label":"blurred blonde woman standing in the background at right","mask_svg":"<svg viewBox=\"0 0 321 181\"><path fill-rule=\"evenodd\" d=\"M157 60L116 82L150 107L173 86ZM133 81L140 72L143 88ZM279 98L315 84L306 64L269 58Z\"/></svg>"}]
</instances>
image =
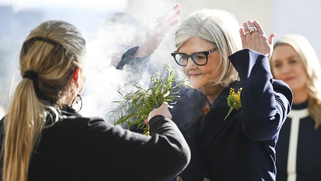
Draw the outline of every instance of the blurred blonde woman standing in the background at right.
<instances>
[{"instance_id":1,"label":"blurred blonde woman standing in the background at right","mask_svg":"<svg viewBox=\"0 0 321 181\"><path fill-rule=\"evenodd\" d=\"M293 105L282 126L277 151L277 181L320 181L321 68L312 45L287 34L274 45L270 59L275 79L293 92Z\"/></svg>"}]
</instances>

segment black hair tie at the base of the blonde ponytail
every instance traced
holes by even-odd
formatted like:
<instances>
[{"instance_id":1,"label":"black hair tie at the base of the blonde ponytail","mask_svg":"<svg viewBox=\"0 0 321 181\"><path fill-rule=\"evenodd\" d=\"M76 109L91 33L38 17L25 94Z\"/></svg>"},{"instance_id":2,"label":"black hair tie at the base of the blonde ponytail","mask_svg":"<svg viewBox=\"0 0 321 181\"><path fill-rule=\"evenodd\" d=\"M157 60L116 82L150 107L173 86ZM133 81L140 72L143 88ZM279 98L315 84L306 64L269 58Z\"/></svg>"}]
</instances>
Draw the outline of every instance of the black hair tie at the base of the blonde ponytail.
<instances>
[{"instance_id":1,"label":"black hair tie at the base of the blonde ponytail","mask_svg":"<svg viewBox=\"0 0 321 181\"><path fill-rule=\"evenodd\" d=\"M35 92L36 92L37 97L39 99L48 101L50 104L54 104L56 102L56 100L54 98L46 96L40 92L38 74L35 71L33 71L33 70L26 71L25 74L23 75L23 78L32 80L32 82L34 84Z\"/></svg>"}]
</instances>

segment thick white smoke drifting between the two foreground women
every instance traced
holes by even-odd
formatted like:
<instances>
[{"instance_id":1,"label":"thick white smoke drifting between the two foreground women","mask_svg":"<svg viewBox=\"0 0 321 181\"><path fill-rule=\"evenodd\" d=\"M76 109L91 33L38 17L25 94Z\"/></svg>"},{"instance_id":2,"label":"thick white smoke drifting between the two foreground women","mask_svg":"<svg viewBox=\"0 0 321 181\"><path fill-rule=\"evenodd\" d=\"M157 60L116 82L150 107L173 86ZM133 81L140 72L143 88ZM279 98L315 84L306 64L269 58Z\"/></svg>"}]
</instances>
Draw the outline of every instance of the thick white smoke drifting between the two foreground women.
<instances>
[{"instance_id":1,"label":"thick white smoke drifting between the two foreground women","mask_svg":"<svg viewBox=\"0 0 321 181\"><path fill-rule=\"evenodd\" d=\"M150 8L141 8L146 10L144 12L146 16L152 13L148 12L151 11ZM170 6L159 10L166 12L168 8ZM132 81L133 78L139 78L140 85L147 87L151 74L161 68L161 64L171 60L169 59L171 58L170 52L174 45L168 46L168 41L166 42L165 39L162 44L166 46L161 46L161 49L166 55L156 52L152 56L149 69L146 72L117 70L111 65L115 64L115 59L120 59L122 53L127 49L145 42L149 32L154 28L155 17L144 22L145 24L128 14L116 14L100 27L97 37L87 44L86 67L88 73L87 85L82 97L83 108L80 111L82 115L106 117L106 114L116 107L112 101L120 99L118 91L130 89L131 86L128 84L124 87L126 83ZM172 39L173 36L171 42L173 42ZM146 61L146 63L148 62ZM146 63L144 62L142 66L146 66L144 65Z\"/></svg>"}]
</instances>

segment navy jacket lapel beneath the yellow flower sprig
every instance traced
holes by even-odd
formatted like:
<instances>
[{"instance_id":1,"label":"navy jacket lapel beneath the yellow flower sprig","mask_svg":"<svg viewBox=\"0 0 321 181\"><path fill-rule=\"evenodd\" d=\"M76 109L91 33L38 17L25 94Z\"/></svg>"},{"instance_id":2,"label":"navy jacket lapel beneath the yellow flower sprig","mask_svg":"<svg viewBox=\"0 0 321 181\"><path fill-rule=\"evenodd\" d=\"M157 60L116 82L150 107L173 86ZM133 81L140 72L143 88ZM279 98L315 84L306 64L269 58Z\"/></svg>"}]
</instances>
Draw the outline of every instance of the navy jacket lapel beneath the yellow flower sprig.
<instances>
[{"instance_id":1,"label":"navy jacket lapel beneath the yellow flower sprig","mask_svg":"<svg viewBox=\"0 0 321 181\"><path fill-rule=\"evenodd\" d=\"M227 105L227 97L230 94L231 87L236 91L239 90L240 82L236 81L230 84L229 87L225 88L212 103L211 109L205 115L198 135L198 143L201 153L203 153L207 146L215 140L215 138L223 131L225 126L229 124L231 118L233 118L233 115L236 112L236 110L234 110L224 121L224 118L230 109Z\"/></svg>"}]
</instances>

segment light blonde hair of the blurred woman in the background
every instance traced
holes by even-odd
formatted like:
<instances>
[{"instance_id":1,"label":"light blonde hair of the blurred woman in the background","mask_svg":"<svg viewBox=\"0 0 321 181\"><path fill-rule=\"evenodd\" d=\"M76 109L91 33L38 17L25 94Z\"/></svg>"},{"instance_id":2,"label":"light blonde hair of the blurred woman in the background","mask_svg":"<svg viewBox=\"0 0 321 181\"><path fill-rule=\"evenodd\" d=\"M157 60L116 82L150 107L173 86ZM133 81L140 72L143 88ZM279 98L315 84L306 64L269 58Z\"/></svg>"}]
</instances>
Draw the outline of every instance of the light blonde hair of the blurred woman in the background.
<instances>
[{"instance_id":1,"label":"light blonde hair of the blurred woman in the background","mask_svg":"<svg viewBox=\"0 0 321 181\"><path fill-rule=\"evenodd\" d=\"M274 45L290 45L299 54L300 60L304 65L308 75L306 83L309 100L308 109L310 116L315 120L315 128L321 125L321 68L315 50L309 41L301 35L287 34ZM272 59L270 59L271 70L273 73Z\"/></svg>"}]
</instances>

